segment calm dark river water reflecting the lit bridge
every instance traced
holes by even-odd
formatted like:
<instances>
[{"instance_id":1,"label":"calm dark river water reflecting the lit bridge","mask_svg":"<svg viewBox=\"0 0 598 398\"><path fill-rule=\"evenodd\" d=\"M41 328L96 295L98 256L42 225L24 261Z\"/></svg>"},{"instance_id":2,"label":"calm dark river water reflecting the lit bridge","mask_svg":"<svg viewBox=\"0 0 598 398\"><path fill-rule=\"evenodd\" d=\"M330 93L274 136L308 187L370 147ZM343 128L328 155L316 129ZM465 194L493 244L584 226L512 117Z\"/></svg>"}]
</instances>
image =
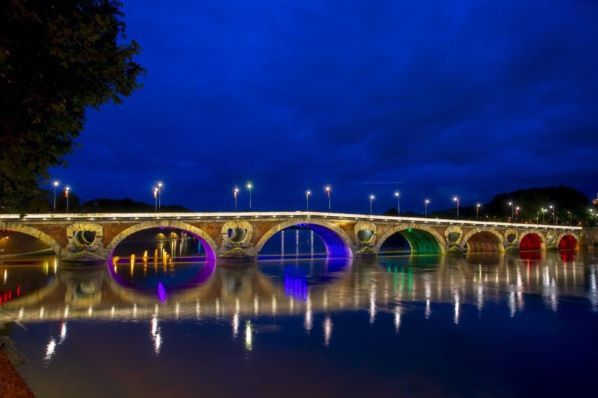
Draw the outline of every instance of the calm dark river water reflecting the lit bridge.
<instances>
[{"instance_id":1,"label":"calm dark river water reflecting the lit bridge","mask_svg":"<svg viewBox=\"0 0 598 398\"><path fill-rule=\"evenodd\" d=\"M0 264L39 397L591 396L598 260Z\"/></svg>"}]
</instances>

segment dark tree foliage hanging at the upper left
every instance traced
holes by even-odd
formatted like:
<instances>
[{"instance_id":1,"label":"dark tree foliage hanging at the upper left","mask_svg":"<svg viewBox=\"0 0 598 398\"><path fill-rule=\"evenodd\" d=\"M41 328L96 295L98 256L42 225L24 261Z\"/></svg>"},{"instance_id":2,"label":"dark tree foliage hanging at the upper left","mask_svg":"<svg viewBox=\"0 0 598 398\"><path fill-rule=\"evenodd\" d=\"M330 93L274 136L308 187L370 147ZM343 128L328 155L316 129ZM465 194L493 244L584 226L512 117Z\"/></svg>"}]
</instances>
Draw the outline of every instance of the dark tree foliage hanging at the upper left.
<instances>
[{"instance_id":1,"label":"dark tree foliage hanging at the upper left","mask_svg":"<svg viewBox=\"0 0 598 398\"><path fill-rule=\"evenodd\" d=\"M120 103L143 72L116 0L0 3L0 207L28 211L88 108Z\"/></svg>"}]
</instances>

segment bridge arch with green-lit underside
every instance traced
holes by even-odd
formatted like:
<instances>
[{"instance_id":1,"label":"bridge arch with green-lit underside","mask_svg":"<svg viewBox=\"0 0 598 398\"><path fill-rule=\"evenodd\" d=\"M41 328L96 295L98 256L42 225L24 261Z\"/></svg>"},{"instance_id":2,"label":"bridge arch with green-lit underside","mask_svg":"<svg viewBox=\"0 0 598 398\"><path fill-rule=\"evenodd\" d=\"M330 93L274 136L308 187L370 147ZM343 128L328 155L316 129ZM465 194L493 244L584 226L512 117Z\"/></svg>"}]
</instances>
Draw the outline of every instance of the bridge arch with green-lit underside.
<instances>
[{"instance_id":1,"label":"bridge arch with green-lit underside","mask_svg":"<svg viewBox=\"0 0 598 398\"><path fill-rule=\"evenodd\" d=\"M442 254L445 252L446 242L442 235L434 229L423 225L417 227L397 225L380 236L376 244L376 253L380 253L384 242L396 233L403 235L414 254Z\"/></svg>"}]
</instances>

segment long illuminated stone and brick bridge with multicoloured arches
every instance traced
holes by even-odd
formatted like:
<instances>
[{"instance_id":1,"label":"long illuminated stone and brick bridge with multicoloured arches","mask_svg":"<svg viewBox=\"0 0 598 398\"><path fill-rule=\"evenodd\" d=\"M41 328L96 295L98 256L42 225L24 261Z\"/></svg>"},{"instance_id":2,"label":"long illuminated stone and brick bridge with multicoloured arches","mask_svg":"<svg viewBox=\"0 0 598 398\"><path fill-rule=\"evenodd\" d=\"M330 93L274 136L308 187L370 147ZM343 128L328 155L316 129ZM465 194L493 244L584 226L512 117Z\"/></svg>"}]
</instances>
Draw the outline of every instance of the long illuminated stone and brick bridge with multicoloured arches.
<instances>
[{"instance_id":1,"label":"long illuminated stone and brick bridge with multicoloured arches","mask_svg":"<svg viewBox=\"0 0 598 398\"><path fill-rule=\"evenodd\" d=\"M211 258L254 258L275 234L314 231L328 257L376 255L401 234L411 253L577 250L581 227L322 212L1 215L0 230L33 236L63 261L108 259L125 238L152 228L195 236Z\"/></svg>"}]
</instances>

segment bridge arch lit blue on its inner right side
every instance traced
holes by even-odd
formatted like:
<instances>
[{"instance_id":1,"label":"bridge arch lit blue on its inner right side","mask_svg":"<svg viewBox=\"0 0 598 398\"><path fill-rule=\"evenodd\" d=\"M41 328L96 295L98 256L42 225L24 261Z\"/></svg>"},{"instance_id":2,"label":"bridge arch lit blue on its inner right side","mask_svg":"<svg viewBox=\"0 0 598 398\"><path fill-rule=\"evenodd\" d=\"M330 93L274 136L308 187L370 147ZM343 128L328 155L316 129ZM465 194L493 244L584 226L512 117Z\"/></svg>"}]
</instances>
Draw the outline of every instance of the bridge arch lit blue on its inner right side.
<instances>
[{"instance_id":1,"label":"bridge arch lit blue on its inner right side","mask_svg":"<svg viewBox=\"0 0 598 398\"><path fill-rule=\"evenodd\" d=\"M351 239L341 228L327 221L311 219L290 220L270 228L255 245L256 253L259 254L266 242L274 235L295 226L314 231L324 243L328 257L353 257Z\"/></svg>"}]
</instances>

